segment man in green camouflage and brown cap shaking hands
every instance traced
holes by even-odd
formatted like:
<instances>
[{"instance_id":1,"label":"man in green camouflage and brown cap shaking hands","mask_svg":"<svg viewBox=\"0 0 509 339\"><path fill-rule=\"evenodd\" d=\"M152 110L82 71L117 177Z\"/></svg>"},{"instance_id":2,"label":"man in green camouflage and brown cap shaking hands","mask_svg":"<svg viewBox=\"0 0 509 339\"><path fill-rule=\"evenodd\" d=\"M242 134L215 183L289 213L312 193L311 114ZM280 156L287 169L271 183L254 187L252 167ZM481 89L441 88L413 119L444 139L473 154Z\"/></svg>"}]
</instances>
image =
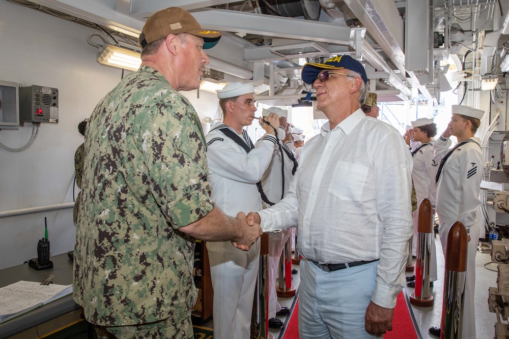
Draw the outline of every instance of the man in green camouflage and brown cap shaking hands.
<instances>
[{"instance_id":1,"label":"man in green camouflage and brown cap shaking hands","mask_svg":"<svg viewBox=\"0 0 509 339\"><path fill-rule=\"evenodd\" d=\"M245 250L261 234L213 206L201 124L178 93L199 87L220 36L180 8L155 13L142 66L90 118L73 297L101 337L192 338L195 238Z\"/></svg>"}]
</instances>

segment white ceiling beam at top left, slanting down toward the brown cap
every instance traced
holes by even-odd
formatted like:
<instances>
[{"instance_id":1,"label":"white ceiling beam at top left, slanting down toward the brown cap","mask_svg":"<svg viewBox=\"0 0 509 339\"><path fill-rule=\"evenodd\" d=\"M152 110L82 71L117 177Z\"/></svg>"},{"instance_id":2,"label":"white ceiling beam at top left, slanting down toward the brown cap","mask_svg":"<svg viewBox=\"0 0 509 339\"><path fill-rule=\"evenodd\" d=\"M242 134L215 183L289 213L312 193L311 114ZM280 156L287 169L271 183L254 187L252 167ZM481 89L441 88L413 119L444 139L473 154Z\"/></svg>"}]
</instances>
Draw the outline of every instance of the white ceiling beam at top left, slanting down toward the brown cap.
<instances>
[{"instance_id":1,"label":"white ceiling beam at top left, slanting down toward the brown cap","mask_svg":"<svg viewBox=\"0 0 509 339\"><path fill-rule=\"evenodd\" d=\"M138 20L115 11L113 7L115 2L112 0L31 0L31 2L136 38L145 24L145 20Z\"/></svg>"}]
</instances>

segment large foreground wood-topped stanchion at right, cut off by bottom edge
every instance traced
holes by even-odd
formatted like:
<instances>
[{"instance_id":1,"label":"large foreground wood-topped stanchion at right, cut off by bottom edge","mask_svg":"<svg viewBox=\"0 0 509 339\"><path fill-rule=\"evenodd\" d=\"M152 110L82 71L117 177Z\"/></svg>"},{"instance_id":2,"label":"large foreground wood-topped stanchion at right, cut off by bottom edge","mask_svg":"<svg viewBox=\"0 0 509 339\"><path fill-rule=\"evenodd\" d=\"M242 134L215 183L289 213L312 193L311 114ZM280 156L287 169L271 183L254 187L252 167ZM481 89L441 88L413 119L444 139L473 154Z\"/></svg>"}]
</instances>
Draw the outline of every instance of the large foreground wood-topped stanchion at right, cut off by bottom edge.
<instances>
[{"instance_id":1,"label":"large foreground wood-topped stanchion at right, cut off by bottom edge","mask_svg":"<svg viewBox=\"0 0 509 339\"><path fill-rule=\"evenodd\" d=\"M442 339L460 339L463 335L467 247L467 230L457 221L450 227L445 245L444 294L440 325Z\"/></svg>"}]
</instances>

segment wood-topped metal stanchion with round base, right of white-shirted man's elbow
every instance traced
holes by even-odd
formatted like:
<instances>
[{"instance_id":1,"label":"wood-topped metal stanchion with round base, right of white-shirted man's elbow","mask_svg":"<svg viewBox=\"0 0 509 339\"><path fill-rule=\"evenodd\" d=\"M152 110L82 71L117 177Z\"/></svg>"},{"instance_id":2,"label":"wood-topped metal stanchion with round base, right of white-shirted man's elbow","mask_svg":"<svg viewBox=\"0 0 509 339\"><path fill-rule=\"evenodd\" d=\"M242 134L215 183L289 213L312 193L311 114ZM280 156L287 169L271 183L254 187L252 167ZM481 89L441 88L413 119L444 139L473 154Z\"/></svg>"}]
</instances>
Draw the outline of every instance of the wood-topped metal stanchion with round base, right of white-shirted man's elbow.
<instances>
[{"instance_id":1,"label":"wood-topped metal stanchion with round base, right of white-shirted man's elbow","mask_svg":"<svg viewBox=\"0 0 509 339\"><path fill-rule=\"evenodd\" d=\"M430 257L433 232L433 208L429 199L419 205L417 233L417 259L415 261L415 292L410 294L410 303L420 307L433 306L430 294Z\"/></svg>"}]
</instances>

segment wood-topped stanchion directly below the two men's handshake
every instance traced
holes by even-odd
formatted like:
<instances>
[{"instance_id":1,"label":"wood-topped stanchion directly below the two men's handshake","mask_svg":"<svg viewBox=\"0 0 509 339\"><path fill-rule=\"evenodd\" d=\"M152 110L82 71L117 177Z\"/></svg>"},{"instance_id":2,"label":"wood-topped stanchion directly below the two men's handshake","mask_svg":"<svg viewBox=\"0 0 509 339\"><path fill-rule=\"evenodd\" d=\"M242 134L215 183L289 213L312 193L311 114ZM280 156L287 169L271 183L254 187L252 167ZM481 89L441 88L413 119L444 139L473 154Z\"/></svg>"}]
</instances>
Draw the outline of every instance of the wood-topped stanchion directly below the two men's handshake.
<instances>
[{"instance_id":1,"label":"wood-topped stanchion directly below the two men's handshake","mask_svg":"<svg viewBox=\"0 0 509 339\"><path fill-rule=\"evenodd\" d=\"M251 315L251 339L274 339L269 334L269 235L260 238L260 265L254 289Z\"/></svg>"}]
</instances>

